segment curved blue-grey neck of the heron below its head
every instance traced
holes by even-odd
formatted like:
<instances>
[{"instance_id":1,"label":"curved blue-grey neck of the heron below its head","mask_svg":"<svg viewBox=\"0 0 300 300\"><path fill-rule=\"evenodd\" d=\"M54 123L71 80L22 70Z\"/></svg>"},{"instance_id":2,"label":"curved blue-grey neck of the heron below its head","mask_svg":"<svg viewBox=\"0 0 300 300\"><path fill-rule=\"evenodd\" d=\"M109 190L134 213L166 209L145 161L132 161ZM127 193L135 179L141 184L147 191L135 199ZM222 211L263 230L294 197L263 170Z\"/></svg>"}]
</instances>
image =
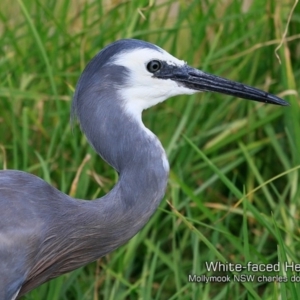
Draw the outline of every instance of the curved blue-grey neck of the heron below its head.
<instances>
[{"instance_id":1,"label":"curved blue-grey neck of the heron below its head","mask_svg":"<svg viewBox=\"0 0 300 300\"><path fill-rule=\"evenodd\" d=\"M95 116L107 117L99 112ZM110 120L98 127L88 127L91 119L80 121L89 142L119 173L107 195L83 204L89 218L94 218L86 233L97 236L90 245L95 250L93 260L128 241L147 223L164 196L169 168L157 137L121 109L115 108Z\"/></svg>"}]
</instances>

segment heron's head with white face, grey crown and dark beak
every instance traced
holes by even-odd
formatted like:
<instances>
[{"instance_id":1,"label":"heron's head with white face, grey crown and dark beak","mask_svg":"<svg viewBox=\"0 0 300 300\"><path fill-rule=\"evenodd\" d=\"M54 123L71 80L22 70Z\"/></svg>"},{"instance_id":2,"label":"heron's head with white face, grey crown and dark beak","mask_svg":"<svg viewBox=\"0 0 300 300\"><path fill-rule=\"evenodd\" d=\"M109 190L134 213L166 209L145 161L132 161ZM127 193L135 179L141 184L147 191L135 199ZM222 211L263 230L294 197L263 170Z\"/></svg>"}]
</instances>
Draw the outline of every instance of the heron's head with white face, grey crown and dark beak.
<instances>
[{"instance_id":1,"label":"heron's head with white face, grey crown and dark beak","mask_svg":"<svg viewBox=\"0 0 300 300\"><path fill-rule=\"evenodd\" d=\"M192 68L158 46L140 40L124 39L108 45L88 64L82 77L86 74L85 83L113 90L115 100L138 118L144 109L169 97L199 91L288 105L267 92Z\"/></svg>"}]
</instances>

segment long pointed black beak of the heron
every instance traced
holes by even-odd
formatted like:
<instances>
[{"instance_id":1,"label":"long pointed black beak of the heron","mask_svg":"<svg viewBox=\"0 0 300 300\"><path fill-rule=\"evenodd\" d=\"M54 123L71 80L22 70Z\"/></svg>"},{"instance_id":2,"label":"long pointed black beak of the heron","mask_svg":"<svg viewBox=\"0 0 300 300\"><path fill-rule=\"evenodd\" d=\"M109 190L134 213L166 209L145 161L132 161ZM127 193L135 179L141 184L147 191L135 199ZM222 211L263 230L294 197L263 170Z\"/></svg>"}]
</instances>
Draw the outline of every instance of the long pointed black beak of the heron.
<instances>
[{"instance_id":1,"label":"long pointed black beak of the heron","mask_svg":"<svg viewBox=\"0 0 300 300\"><path fill-rule=\"evenodd\" d=\"M167 69L169 69L171 72L168 72ZM155 75L159 78L167 79L169 73L169 79L175 80L183 86L193 90L217 92L243 99L276 105L289 105L288 102L275 95L239 82L202 72L188 65L180 68L174 66L164 66L160 72L161 74Z\"/></svg>"}]
</instances>

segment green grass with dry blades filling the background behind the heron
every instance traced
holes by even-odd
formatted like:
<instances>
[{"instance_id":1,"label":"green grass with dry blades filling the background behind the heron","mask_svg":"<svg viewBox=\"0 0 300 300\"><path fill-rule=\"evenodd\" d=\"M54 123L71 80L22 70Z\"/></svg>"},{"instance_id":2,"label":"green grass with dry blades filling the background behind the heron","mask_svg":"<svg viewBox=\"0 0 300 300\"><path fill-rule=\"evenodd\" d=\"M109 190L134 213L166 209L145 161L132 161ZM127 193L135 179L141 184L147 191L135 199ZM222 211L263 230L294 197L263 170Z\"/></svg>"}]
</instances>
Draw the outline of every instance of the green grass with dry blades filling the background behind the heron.
<instances>
[{"instance_id":1,"label":"green grass with dry blades filling the background behind the heron","mask_svg":"<svg viewBox=\"0 0 300 300\"><path fill-rule=\"evenodd\" d=\"M120 38L144 39L204 71L278 94L290 107L203 93L144 113L171 165L165 198L126 245L27 294L35 299L298 299L300 7L294 1L2 1L0 165L94 199L117 180L69 124L86 63ZM89 155L89 156L87 156ZM79 172L78 168L81 166ZM76 180L75 180L76 179ZM212 272L205 262L279 263ZM188 275L229 275L190 283ZM287 277L237 282L234 275ZM300 277L296 277L300 279ZM257 278L256 278L257 279Z\"/></svg>"}]
</instances>

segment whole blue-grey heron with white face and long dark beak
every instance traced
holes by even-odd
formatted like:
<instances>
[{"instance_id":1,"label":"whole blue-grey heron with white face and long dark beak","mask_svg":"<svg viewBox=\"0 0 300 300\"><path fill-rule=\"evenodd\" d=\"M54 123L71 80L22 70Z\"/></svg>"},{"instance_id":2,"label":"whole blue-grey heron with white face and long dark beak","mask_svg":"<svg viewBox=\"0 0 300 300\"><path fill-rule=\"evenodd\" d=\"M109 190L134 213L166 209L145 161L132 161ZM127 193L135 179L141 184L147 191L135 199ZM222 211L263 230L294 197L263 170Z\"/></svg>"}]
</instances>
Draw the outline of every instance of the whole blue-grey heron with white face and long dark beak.
<instances>
[{"instance_id":1,"label":"whole blue-grey heron with white face and long dark beak","mask_svg":"<svg viewBox=\"0 0 300 300\"><path fill-rule=\"evenodd\" d=\"M0 299L113 251L149 220L165 193L169 164L142 123L144 109L179 94L215 91L287 105L271 94L189 67L156 45L120 40L82 73L72 116L119 174L104 197L74 199L21 171L0 171Z\"/></svg>"}]
</instances>

